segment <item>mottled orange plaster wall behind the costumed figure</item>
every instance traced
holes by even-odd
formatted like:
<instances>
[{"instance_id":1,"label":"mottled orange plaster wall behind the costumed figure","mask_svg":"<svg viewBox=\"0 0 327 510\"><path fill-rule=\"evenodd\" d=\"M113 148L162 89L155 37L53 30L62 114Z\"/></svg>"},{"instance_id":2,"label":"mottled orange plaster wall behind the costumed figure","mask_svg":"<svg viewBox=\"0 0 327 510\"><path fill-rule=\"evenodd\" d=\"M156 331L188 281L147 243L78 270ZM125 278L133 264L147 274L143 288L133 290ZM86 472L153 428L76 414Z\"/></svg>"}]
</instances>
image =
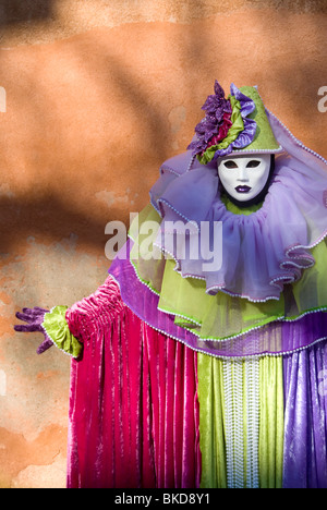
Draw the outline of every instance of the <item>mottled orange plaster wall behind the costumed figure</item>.
<instances>
[{"instance_id":1,"label":"mottled orange plaster wall behind the costumed figure","mask_svg":"<svg viewBox=\"0 0 327 510\"><path fill-rule=\"evenodd\" d=\"M147 204L215 78L326 158L326 31L325 0L0 0L0 487L65 486L70 360L15 312L102 283L106 223Z\"/></svg>"}]
</instances>

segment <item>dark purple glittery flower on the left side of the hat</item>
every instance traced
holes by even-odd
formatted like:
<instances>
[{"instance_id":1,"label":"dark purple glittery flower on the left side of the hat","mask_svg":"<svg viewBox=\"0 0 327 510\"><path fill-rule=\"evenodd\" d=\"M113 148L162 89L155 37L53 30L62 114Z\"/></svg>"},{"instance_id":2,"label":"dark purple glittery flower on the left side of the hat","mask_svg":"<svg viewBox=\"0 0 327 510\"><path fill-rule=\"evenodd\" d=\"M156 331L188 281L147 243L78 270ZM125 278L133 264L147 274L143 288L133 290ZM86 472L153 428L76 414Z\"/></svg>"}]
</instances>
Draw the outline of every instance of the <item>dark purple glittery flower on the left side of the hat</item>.
<instances>
[{"instance_id":1,"label":"dark purple glittery flower on the left side of the hat","mask_svg":"<svg viewBox=\"0 0 327 510\"><path fill-rule=\"evenodd\" d=\"M219 129L228 122L232 113L231 104L225 98L223 88L217 80L215 94L207 97L202 110L206 112L206 117L195 126L197 139L187 147L194 149L194 154L203 153L207 148L208 142L219 134Z\"/></svg>"}]
</instances>

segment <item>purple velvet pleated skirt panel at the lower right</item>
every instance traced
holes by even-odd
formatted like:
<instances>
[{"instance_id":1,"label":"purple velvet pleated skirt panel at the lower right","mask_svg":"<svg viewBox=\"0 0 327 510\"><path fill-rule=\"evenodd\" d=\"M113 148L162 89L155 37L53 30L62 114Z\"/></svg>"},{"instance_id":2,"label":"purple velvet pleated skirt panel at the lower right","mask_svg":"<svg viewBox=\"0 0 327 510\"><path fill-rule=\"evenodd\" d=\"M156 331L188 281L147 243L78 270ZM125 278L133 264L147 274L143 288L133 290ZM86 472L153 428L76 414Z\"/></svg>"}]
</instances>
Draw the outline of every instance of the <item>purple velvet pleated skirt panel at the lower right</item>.
<instances>
[{"instance_id":1,"label":"purple velvet pleated skirt panel at the lower right","mask_svg":"<svg viewBox=\"0 0 327 510\"><path fill-rule=\"evenodd\" d=\"M284 356L284 488L327 488L327 342Z\"/></svg>"}]
</instances>

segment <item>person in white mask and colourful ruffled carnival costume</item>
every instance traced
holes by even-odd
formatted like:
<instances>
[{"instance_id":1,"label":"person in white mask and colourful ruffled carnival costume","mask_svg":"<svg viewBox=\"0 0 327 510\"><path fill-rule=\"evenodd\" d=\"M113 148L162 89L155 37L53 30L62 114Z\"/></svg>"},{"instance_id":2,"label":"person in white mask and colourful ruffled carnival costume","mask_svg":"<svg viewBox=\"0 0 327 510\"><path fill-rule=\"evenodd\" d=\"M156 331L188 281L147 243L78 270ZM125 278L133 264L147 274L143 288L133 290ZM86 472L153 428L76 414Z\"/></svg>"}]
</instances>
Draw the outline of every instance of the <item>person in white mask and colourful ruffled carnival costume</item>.
<instances>
[{"instance_id":1,"label":"person in white mask and colourful ruffled carnival costume","mask_svg":"<svg viewBox=\"0 0 327 510\"><path fill-rule=\"evenodd\" d=\"M256 87L203 109L106 282L17 314L72 355L68 487L327 487L326 160Z\"/></svg>"}]
</instances>

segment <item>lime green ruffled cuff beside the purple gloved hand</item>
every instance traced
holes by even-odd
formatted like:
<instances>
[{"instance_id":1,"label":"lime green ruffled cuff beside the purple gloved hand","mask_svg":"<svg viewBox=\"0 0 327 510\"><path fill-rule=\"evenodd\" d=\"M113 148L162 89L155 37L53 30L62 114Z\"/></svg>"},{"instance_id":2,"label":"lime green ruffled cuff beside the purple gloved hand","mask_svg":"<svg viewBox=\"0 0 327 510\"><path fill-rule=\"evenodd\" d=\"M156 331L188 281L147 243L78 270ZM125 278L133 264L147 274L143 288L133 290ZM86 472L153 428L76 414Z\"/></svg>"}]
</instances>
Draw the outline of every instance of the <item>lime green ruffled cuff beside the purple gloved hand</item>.
<instances>
[{"instance_id":1,"label":"lime green ruffled cuff beside the purple gloved hand","mask_svg":"<svg viewBox=\"0 0 327 510\"><path fill-rule=\"evenodd\" d=\"M65 320L68 306L56 306L50 313L45 314L44 329L61 351L73 357L80 357L83 345L73 337Z\"/></svg>"}]
</instances>

